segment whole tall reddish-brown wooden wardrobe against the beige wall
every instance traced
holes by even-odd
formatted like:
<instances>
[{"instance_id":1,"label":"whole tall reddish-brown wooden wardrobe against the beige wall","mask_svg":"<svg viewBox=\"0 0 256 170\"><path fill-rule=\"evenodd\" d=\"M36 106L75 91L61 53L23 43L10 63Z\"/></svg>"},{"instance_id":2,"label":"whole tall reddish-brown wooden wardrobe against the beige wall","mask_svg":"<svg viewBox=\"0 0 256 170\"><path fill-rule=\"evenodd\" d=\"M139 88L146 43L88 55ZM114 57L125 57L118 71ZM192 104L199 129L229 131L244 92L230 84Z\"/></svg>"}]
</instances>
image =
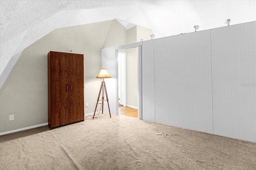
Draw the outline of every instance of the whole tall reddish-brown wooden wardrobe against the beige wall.
<instances>
[{"instance_id":1,"label":"whole tall reddish-brown wooden wardrobe against the beige wall","mask_svg":"<svg viewBox=\"0 0 256 170\"><path fill-rule=\"evenodd\" d=\"M48 126L84 121L84 55L48 53Z\"/></svg>"}]
</instances>

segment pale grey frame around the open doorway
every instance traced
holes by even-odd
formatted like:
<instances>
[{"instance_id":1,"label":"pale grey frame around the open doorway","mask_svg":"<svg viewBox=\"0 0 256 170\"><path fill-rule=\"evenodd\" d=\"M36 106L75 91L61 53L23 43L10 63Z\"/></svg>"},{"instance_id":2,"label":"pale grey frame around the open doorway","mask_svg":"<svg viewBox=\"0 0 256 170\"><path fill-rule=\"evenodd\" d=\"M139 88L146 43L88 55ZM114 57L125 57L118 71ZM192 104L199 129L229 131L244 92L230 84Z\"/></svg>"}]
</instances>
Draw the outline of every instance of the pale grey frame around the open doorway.
<instances>
[{"instance_id":1,"label":"pale grey frame around the open doorway","mask_svg":"<svg viewBox=\"0 0 256 170\"><path fill-rule=\"evenodd\" d=\"M138 118L142 119L142 44L143 41L126 45L116 46L116 98L118 98L118 50L136 48L138 50ZM117 100L118 106L118 100ZM119 109L116 110L119 115Z\"/></svg>"}]
</instances>

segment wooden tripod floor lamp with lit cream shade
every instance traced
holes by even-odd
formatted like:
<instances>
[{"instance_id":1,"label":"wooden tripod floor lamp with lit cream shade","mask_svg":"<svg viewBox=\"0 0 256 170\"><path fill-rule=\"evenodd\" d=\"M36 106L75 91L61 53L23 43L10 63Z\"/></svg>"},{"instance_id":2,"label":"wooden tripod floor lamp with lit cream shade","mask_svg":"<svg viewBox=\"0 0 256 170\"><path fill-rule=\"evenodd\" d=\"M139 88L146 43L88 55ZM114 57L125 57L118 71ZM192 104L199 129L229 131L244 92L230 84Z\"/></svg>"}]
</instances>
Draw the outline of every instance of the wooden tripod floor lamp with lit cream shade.
<instances>
[{"instance_id":1,"label":"wooden tripod floor lamp with lit cream shade","mask_svg":"<svg viewBox=\"0 0 256 170\"><path fill-rule=\"evenodd\" d=\"M103 81L101 82L101 86L100 86L100 92L99 92L99 95L98 95L98 99L97 99L97 104L96 104L96 107L95 107L95 110L94 110L94 114L93 114L93 118L94 119L94 115L95 115L95 112L96 112L96 109L97 109L97 106L98 106L98 102L100 100L100 94L102 92L102 114L103 114L103 102L104 102L104 93L106 93L106 101L108 102L108 93L107 93L107 89L106 89L106 84L105 84L105 81L104 81L104 78L111 78L110 74L108 73L108 70L106 68L101 68L100 69L100 72L98 74L98 76L96 78L103 78ZM110 114L110 109L109 109L109 104L108 104L108 110L109 110L109 115L110 115L110 118L111 118L111 114Z\"/></svg>"}]
</instances>

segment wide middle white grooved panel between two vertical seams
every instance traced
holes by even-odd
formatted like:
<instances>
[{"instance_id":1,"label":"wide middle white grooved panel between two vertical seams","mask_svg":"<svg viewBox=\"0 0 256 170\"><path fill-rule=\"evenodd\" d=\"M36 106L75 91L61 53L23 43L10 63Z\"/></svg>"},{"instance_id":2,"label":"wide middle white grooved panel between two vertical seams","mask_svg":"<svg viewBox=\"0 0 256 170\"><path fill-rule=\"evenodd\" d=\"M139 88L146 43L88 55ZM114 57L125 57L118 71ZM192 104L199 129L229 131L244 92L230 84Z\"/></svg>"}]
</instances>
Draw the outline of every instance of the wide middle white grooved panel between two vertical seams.
<instances>
[{"instance_id":1,"label":"wide middle white grooved panel between two vertical seams","mask_svg":"<svg viewBox=\"0 0 256 170\"><path fill-rule=\"evenodd\" d=\"M157 123L212 133L210 31L154 40Z\"/></svg>"}]
</instances>

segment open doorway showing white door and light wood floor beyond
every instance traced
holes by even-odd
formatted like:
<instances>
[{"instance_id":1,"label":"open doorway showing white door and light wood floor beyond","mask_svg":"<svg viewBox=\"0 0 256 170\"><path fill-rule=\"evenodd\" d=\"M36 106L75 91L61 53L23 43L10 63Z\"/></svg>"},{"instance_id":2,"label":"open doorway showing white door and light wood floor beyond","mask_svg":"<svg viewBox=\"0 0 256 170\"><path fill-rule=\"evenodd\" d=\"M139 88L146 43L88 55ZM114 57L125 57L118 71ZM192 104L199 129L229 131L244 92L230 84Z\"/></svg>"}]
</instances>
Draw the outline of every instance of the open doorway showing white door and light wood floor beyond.
<instances>
[{"instance_id":1,"label":"open doorway showing white door and light wood floor beyond","mask_svg":"<svg viewBox=\"0 0 256 170\"><path fill-rule=\"evenodd\" d=\"M117 61L119 114L138 117L138 47L118 50Z\"/></svg>"}]
</instances>

